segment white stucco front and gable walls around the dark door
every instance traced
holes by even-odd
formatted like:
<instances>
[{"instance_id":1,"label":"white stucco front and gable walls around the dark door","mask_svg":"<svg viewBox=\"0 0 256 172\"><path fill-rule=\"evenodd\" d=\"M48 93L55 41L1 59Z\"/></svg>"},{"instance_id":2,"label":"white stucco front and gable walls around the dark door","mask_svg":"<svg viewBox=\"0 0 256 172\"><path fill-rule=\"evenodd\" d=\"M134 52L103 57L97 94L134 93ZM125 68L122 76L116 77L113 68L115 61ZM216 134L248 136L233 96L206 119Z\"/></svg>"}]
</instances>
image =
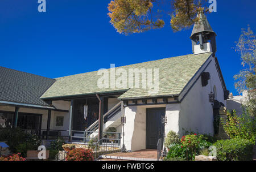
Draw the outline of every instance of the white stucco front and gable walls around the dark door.
<instances>
[{"instance_id":1,"label":"white stucco front and gable walls around the dark door","mask_svg":"<svg viewBox=\"0 0 256 172\"><path fill-rule=\"evenodd\" d=\"M203 70L210 73L210 80L206 87L202 87L201 84L200 74ZM199 79L197 79L198 77ZM192 86L192 83L195 84ZM215 99L226 106L224 90L215 61L210 57L191 84L188 84L187 89L181 93L179 100L183 96L185 97L180 104L127 106L123 110L123 115L126 117L125 145L127 150L138 151L146 148L146 108L166 107L166 134L172 130L177 132L180 137L185 134L185 131L213 135L213 108L209 102L209 93L213 92L214 85L217 92ZM192 88L188 91L191 86ZM185 92L187 92L186 95Z\"/></svg>"}]
</instances>

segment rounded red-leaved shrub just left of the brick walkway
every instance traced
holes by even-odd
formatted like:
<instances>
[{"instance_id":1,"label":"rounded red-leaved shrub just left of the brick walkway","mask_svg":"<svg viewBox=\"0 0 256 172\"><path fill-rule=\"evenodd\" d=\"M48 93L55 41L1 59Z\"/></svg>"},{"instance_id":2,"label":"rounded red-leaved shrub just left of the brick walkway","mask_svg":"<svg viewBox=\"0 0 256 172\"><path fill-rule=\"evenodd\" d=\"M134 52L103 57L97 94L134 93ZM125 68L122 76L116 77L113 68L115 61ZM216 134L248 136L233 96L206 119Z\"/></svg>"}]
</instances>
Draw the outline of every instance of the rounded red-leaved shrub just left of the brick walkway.
<instances>
[{"instance_id":1,"label":"rounded red-leaved shrub just left of the brick walkway","mask_svg":"<svg viewBox=\"0 0 256 172\"><path fill-rule=\"evenodd\" d=\"M93 151L92 149L72 149L67 153L66 161L92 161Z\"/></svg>"}]
</instances>

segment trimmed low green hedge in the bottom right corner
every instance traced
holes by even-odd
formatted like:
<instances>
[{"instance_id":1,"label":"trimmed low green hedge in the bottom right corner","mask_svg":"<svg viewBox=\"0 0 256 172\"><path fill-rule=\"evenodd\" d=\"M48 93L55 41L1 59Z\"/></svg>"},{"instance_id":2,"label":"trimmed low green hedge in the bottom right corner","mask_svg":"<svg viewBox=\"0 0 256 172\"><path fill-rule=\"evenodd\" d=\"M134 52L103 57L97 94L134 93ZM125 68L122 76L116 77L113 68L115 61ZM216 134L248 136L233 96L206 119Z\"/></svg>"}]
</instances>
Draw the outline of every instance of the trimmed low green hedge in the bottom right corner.
<instances>
[{"instance_id":1,"label":"trimmed low green hedge in the bottom right corner","mask_svg":"<svg viewBox=\"0 0 256 172\"><path fill-rule=\"evenodd\" d=\"M220 161L252 160L253 145L250 140L241 138L218 140L214 143L217 160Z\"/></svg>"}]
</instances>

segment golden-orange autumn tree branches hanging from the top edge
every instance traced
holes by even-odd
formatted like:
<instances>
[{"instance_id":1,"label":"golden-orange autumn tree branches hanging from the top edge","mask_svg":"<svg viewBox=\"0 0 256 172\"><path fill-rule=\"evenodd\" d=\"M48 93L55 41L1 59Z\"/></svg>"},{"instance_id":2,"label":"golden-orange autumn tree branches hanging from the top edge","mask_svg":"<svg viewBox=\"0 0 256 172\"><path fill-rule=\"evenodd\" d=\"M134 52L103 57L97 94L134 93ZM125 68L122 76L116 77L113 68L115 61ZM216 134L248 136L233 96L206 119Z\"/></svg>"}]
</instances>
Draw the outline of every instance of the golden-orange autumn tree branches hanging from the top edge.
<instances>
[{"instance_id":1,"label":"golden-orange autumn tree branches hanging from the top edge","mask_svg":"<svg viewBox=\"0 0 256 172\"><path fill-rule=\"evenodd\" d=\"M114 28L126 35L164 27L164 14L170 16L172 29L181 31L193 25L208 6L207 0L112 0L108 15Z\"/></svg>"}]
</instances>

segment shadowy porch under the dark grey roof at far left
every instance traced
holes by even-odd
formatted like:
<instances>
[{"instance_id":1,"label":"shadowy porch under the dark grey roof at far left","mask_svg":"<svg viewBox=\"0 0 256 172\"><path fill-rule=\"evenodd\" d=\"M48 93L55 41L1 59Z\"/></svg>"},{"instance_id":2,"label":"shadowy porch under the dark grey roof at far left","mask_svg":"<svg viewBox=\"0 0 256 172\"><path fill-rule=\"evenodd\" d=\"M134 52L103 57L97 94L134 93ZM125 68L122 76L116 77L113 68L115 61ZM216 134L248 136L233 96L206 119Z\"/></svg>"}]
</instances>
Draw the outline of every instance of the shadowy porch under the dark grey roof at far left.
<instances>
[{"instance_id":1,"label":"shadowy porch under the dark grey roof at far left","mask_svg":"<svg viewBox=\"0 0 256 172\"><path fill-rule=\"evenodd\" d=\"M56 119L59 119L57 116L64 118L68 112L68 109L58 109L55 106L1 101L0 128L19 127L25 133L36 134L41 139L50 139L52 136L64 136L67 135L67 130L62 126L59 128L54 126L57 124ZM52 117L56 117L56 119Z\"/></svg>"}]
</instances>

